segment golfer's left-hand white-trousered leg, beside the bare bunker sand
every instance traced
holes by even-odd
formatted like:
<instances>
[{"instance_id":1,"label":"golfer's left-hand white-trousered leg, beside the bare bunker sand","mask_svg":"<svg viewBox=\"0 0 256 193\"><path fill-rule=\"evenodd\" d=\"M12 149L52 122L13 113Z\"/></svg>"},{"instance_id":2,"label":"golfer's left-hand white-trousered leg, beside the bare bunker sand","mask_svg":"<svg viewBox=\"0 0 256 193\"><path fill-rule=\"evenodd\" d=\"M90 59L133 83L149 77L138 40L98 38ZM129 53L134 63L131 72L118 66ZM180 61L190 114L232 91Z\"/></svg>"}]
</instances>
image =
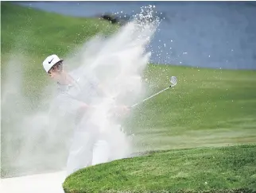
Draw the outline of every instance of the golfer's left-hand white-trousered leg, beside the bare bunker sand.
<instances>
[{"instance_id":1,"label":"golfer's left-hand white-trousered leg, beside the bare bunker sand","mask_svg":"<svg viewBox=\"0 0 256 193\"><path fill-rule=\"evenodd\" d=\"M94 136L90 132L75 132L72 147L68 155L68 175L76 172L80 168L86 168L91 165L94 140Z\"/></svg>"}]
</instances>

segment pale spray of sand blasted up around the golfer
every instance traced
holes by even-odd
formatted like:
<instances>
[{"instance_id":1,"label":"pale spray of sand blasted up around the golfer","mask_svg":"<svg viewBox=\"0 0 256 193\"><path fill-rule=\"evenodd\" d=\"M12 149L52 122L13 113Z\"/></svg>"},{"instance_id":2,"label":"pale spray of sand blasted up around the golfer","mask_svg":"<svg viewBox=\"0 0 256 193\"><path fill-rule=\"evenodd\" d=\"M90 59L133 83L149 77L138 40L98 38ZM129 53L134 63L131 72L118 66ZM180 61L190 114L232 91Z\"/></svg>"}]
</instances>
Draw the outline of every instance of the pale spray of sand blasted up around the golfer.
<instances>
[{"instance_id":1,"label":"pale spray of sand blasted up around the golfer","mask_svg":"<svg viewBox=\"0 0 256 193\"><path fill-rule=\"evenodd\" d=\"M65 58L68 68L76 66L72 73L80 79L80 96L98 106L90 117L84 119L97 125L100 132L111 133L108 135L114 141L111 160L130 156L133 152L130 139L120 129L116 129L122 121L111 117L110 112L113 106L130 106L145 95L142 75L150 59L150 52L146 52L146 48L159 24L153 14L152 6L143 7L142 13L111 37L94 37L83 44L75 56L71 54ZM22 86L19 83L22 75L17 64L18 61L10 61L9 66L14 68L15 65L17 75L14 75L13 70L10 70L10 74L6 71L7 77L12 75L13 78L6 79L2 89L2 115L12 123L5 125L8 129L3 133L6 176L17 176L17 172L65 169L69 145L72 140L76 140L72 139L75 125L61 113L56 114L56 101L52 99L54 95L48 95L43 100L52 104L50 113L38 110L37 113L29 114L26 111L29 101L21 95ZM96 79L107 95L90 95L87 90L88 79Z\"/></svg>"}]
</instances>

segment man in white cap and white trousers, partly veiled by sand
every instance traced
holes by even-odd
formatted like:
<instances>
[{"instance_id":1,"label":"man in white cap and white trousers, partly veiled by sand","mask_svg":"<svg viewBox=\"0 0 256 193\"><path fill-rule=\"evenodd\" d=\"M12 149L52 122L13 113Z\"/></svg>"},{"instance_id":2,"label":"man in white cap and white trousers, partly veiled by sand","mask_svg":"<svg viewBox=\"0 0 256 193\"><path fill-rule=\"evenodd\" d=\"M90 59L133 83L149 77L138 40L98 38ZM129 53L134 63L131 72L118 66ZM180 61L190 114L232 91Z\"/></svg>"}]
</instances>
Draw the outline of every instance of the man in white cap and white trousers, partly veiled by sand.
<instances>
[{"instance_id":1,"label":"man in white cap and white trousers, partly veiled by sand","mask_svg":"<svg viewBox=\"0 0 256 193\"><path fill-rule=\"evenodd\" d=\"M74 118L76 122L67 162L67 175L70 175L72 172L91 164L107 162L111 149L109 149L107 141L99 139L99 127L97 124L87 121L87 117L90 117L91 112L95 110L95 106L87 102L87 98L93 98L91 97L93 95L96 98L100 98L99 83L96 79L89 79L86 93L81 92L83 87L80 87L80 77L76 77L72 72L65 71L63 62L63 59L54 54L44 60L43 67L58 84L59 95L56 97L58 110L61 113L68 114L68 117ZM83 95L80 95L81 93ZM90 97L87 97L88 95ZM126 106L121 106L117 110L121 110L124 113L129 112ZM97 143L99 148L93 152Z\"/></svg>"}]
</instances>

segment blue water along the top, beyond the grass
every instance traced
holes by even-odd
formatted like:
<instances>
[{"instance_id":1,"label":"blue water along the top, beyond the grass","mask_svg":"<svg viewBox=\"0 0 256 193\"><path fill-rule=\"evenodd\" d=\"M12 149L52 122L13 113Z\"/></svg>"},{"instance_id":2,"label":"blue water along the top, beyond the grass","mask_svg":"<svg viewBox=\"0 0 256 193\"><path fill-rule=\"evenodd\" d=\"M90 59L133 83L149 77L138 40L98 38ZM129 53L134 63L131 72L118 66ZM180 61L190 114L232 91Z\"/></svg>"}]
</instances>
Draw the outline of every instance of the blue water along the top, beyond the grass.
<instances>
[{"instance_id":1,"label":"blue water along the top, beyond the grass","mask_svg":"<svg viewBox=\"0 0 256 193\"><path fill-rule=\"evenodd\" d=\"M17 2L76 17L134 14L155 5L165 15L152 61L204 68L256 69L255 2Z\"/></svg>"}]
</instances>

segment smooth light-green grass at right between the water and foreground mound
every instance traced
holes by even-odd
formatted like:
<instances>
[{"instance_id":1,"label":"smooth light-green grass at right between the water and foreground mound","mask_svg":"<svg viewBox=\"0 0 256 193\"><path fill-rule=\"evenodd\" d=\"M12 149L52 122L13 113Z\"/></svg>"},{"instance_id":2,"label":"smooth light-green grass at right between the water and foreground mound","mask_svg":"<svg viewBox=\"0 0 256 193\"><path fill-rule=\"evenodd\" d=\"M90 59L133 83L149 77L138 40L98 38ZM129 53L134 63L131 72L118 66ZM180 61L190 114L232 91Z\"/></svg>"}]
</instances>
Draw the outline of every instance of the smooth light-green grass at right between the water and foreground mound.
<instances>
[{"instance_id":1,"label":"smooth light-green grass at right between the water and foreground mound","mask_svg":"<svg viewBox=\"0 0 256 193\"><path fill-rule=\"evenodd\" d=\"M125 127L142 149L256 142L256 71L150 65L149 93L176 87L134 110Z\"/></svg>"}]
</instances>

